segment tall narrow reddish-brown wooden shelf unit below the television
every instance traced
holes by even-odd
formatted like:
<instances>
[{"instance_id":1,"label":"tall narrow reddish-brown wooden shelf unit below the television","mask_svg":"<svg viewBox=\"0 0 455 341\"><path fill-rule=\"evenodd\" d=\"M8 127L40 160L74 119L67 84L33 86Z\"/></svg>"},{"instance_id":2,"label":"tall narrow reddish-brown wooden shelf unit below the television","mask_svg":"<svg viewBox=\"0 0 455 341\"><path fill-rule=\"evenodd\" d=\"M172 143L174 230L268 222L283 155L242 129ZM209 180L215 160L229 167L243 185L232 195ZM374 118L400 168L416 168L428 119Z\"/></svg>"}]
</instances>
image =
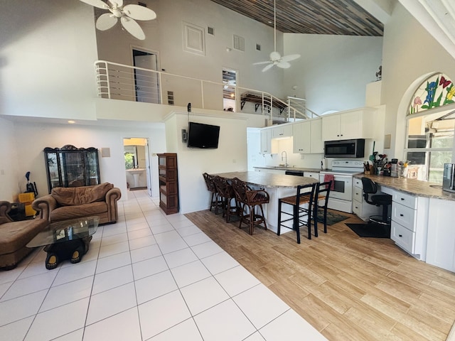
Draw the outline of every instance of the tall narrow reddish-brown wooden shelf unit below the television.
<instances>
[{"instance_id":1,"label":"tall narrow reddish-brown wooden shelf unit below the television","mask_svg":"<svg viewBox=\"0 0 455 341\"><path fill-rule=\"evenodd\" d=\"M159 207L172 215L178 212L178 172L177 154L162 153L158 155L159 172Z\"/></svg>"}]
</instances>

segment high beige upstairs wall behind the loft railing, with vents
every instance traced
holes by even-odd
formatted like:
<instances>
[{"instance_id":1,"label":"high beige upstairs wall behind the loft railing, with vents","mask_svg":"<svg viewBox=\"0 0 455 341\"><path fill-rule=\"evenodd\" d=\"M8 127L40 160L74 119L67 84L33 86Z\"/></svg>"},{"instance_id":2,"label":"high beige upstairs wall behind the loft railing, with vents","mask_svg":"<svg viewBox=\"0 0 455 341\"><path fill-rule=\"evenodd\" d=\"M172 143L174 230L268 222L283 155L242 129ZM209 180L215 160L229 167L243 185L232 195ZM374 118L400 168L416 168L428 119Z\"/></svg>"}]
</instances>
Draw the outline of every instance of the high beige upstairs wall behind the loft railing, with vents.
<instances>
[{"instance_id":1,"label":"high beige upstairs wall behind the loft railing, with vents","mask_svg":"<svg viewBox=\"0 0 455 341\"><path fill-rule=\"evenodd\" d=\"M161 69L174 75L186 75L202 80L222 82L223 67L237 70L237 85L271 92L281 97L283 71L274 68L261 72L264 65L252 65L268 60L272 52L273 28L208 0L144 0L156 12L153 21L141 21L146 39L137 40L117 25L108 31L96 31L100 59L132 65L132 47L159 53ZM98 13L98 11L97 11ZM104 13L99 11L99 13ZM183 22L205 31L205 55L183 51ZM215 35L207 27L215 28ZM233 49L233 34L245 38L245 52ZM261 51L256 50L256 43ZM277 34L277 46L282 51L282 33ZM226 49L231 48L228 52ZM176 93L178 96L178 92ZM220 96L220 108L223 109ZM194 102L194 101L188 101Z\"/></svg>"}]
</instances>

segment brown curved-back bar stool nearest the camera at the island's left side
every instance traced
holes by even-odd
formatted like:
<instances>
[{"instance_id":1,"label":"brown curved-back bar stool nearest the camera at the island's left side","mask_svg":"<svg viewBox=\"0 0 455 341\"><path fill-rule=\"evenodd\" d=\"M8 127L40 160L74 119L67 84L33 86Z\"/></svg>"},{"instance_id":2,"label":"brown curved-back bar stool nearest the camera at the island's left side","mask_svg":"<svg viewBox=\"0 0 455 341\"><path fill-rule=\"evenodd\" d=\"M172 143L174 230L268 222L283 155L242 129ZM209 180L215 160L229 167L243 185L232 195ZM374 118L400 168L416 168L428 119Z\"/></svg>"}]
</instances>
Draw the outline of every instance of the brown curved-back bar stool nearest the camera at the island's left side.
<instances>
[{"instance_id":1,"label":"brown curved-back bar stool nearest the camera at the island's left side","mask_svg":"<svg viewBox=\"0 0 455 341\"><path fill-rule=\"evenodd\" d=\"M252 190L239 178L233 178L231 184L237 202L240 202L242 205L239 228L242 227L242 224L247 224L250 227L250 234L253 234L255 226L261 224L264 225L264 229L267 229L262 204L269 202L269 193L265 190ZM245 212L245 206L248 208L247 212ZM256 207L259 207L259 210L261 210L260 215L258 212L255 212Z\"/></svg>"}]
</instances>

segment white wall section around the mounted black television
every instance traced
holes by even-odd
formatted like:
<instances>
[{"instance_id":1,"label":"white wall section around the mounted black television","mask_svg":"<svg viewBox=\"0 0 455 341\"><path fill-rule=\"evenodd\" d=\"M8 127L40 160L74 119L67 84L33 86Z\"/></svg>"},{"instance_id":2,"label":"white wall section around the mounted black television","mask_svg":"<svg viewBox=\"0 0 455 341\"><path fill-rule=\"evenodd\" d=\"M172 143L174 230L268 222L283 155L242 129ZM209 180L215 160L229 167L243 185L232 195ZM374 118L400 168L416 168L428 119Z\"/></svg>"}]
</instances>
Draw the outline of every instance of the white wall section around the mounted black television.
<instances>
[{"instance_id":1,"label":"white wall section around the mounted black television","mask_svg":"<svg viewBox=\"0 0 455 341\"><path fill-rule=\"evenodd\" d=\"M207 210L210 195L203 173L247 171L247 124L245 119L191 114L190 121L220 126L217 149L187 148L181 141L181 129L188 129L186 113L174 113L166 119L169 153L177 153L180 212Z\"/></svg>"}]
</instances>

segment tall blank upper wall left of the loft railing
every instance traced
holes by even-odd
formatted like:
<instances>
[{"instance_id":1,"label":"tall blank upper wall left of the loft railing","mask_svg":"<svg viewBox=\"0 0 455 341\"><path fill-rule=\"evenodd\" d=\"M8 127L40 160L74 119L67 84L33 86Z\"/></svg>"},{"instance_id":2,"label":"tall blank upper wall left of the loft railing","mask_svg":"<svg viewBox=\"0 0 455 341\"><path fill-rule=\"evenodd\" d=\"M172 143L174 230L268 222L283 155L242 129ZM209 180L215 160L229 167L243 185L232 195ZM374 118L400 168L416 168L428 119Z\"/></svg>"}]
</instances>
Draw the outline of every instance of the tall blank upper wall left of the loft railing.
<instances>
[{"instance_id":1,"label":"tall blank upper wall left of the loft railing","mask_svg":"<svg viewBox=\"0 0 455 341\"><path fill-rule=\"evenodd\" d=\"M95 119L93 10L81 1L1 1L0 114Z\"/></svg>"}]
</instances>

